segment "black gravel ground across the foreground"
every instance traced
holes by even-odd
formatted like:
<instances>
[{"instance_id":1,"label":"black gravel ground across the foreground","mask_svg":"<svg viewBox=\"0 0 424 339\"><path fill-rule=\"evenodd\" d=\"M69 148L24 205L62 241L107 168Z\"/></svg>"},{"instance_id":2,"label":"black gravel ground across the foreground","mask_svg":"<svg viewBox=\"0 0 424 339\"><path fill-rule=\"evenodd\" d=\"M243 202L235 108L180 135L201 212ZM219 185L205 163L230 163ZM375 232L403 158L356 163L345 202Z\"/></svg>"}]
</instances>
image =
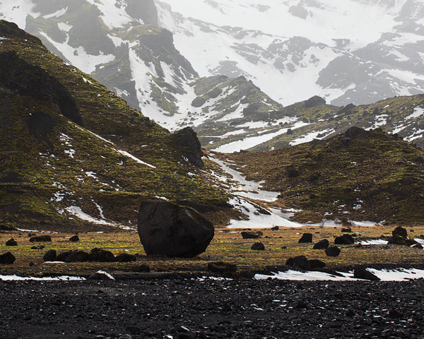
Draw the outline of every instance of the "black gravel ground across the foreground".
<instances>
[{"instance_id":1,"label":"black gravel ground across the foreground","mask_svg":"<svg viewBox=\"0 0 424 339\"><path fill-rule=\"evenodd\" d=\"M424 280L0 282L0 338L424 338Z\"/></svg>"}]
</instances>

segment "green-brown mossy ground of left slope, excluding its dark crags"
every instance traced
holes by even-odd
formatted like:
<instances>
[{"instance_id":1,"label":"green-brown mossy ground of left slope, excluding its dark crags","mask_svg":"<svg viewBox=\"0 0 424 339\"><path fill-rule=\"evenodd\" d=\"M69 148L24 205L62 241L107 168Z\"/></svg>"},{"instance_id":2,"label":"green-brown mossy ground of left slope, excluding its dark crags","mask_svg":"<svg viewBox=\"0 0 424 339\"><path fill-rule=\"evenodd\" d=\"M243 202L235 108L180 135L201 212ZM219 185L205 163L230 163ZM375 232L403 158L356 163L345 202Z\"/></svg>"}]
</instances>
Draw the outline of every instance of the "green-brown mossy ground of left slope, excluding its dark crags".
<instances>
[{"instance_id":1,"label":"green-brown mossy ground of left slope, excluding its dark crags","mask_svg":"<svg viewBox=\"0 0 424 339\"><path fill-rule=\"evenodd\" d=\"M25 42L16 38L14 32L6 37L8 39L0 44L0 52L15 51L28 64L40 66L60 79L76 99L83 126L113 141L116 146L64 119L50 102L8 95L2 104L2 107L11 107L4 111L8 114L8 126L1 133L2 159L7 155L8 161L2 162L1 177L6 178L2 185L12 186L12 189L2 189L2 203L8 199L9 203L3 208L17 206L18 213L12 210L8 215L2 215L3 222L25 224L30 221L34 225L36 220L30 220L30 215L39 213L45 215L43 223L57 226L63 221L58 210L79 206L96 217L101 212L93 201L99 205L104 201L105 218L116 222L126 220L126 224L131 220L134 225L134 211L141 199L156 195L175 201L195 201L204 206L211 218L217 209L225 210L227 195L204 183L203 172L184 160L165 129L128 107L124 100L86 74L54 57L38 40ZM41 140L31 136L29 127L23 123L23 117L34 112L44 112L57 121L54 130ZM11 136L14 146L9 142ZM131 160L113 148L127 150L156 169ZM194 176L189 176L189 172ZM24 177L25 183L7 179L9 173ZM10 191L19 190L24 184L28 186L25 194L11 194ZM63 199L52 201L57 192L64 194ZM25 196L36 196L49 208L41 210L38 204L25 203ZM16 201L15 205L13 201ZM119 201L123 204L120 205ZM26 220L18 218L23 205L33 207ZM49 213L57 219L50 218Z\"/></svg>"}]
</instances>

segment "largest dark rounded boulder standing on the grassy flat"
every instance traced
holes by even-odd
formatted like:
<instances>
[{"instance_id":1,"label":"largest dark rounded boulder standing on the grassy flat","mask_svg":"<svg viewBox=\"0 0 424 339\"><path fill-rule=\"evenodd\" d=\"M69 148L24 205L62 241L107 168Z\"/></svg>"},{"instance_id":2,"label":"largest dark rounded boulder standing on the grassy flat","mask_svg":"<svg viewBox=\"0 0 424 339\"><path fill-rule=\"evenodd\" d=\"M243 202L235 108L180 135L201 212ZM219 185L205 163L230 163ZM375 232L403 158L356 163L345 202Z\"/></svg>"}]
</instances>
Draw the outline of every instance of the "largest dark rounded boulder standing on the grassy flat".
<instances>
[{"instance_id":1,"label":"largest dark rounded boulder standing on the grassy flat","mask_svg":"<svg viewBox=\"0 0 424 339\"><path fill-rule=\"evenodd\" d=\"M167 201L145 201L139 211L139 236L148 256L191 258L206 251L215 230L196 210Z\"/></svg>"}]
</instances>

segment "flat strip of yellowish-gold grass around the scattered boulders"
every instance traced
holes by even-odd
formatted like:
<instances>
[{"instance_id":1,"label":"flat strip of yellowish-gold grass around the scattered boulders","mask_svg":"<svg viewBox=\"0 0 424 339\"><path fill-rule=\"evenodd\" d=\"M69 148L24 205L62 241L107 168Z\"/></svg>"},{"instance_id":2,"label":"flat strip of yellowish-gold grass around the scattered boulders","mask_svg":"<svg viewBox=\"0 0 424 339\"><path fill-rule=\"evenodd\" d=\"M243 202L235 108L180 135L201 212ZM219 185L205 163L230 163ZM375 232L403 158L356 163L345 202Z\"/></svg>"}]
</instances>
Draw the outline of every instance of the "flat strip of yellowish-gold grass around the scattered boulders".
<instances>
[{"instance_id":1,"label":"flat strip of yellowish-gold grass around the scattered boulders","mask_svg":"<svg viewBox=\"0 0 424 339\"><path fill-rule=\"evenodd\" d=\"M394 227L352 227L356 239L379 238L382 235L390 236ZM407 227L408 235L418 238L424 234L424 227ZM69 242L73 234L50 234L51 243L31 243L28 232L1 232L0 254L7 251L16 256L13 265L0 266L0 275L90 275L97 270L107 272L126 272L134 270L141 264L148 265L156 272L189 272L206 271L208 262L225 261L236 263L239 270L263 270L265 266L284 265L292 256L305 255L307 258L317 258L324 261L329 268L353 266L357 264L422 264L424 250L412 249L407 246L373 245L355 246L341 245L341 255L332 258L326 256L322 250L312 249L313 244L298 244L302 233L312 233L314 242L328 239L333 243L334 237L341 234L341 228L335 227L302 227L281 228L280 230L261 230L264 232L261 239L242 239L242 230L218 229L216 236L208 246L207 251L196 258L166 258L146 256L140 244L139 235L135 232L113 233L81 233L78 236L81 242ZM8 239L14 238L18 246L6 246ZM262 242L265 251L252 251L254 242ZM31 249L32 246L45 245L45 249ZM112 251L115 255L121 253L137 254L138 260L134 263L44 263L42 257L49 249L66 251L80 249L90 251L98 247ZM284 248L285 247L285 248ZM33 262L35 266L30 266Z\"/></svg>"}]
</instances>

